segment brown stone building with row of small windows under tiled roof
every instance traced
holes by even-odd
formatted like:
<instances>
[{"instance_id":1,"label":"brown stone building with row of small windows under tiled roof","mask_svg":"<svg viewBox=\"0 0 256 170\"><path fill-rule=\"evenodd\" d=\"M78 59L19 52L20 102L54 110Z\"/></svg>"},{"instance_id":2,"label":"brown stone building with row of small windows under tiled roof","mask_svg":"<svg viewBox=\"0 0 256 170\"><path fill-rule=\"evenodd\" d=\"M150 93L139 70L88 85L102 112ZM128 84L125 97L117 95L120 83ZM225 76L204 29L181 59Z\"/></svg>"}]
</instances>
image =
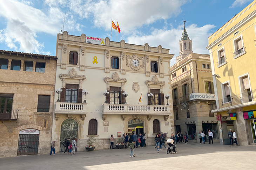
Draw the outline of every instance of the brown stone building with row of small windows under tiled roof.
<instances>
[{"instance_id":1,"label":"brown stone building with row of small windows under tiled roof","mask_svg":"<svg viewBox=\"0 0 256 170\"><path fill-rule=\"evenodd\" d=\"M0 50L0 157L50 152L56 60Z\"/></svg>"}]
</instances>

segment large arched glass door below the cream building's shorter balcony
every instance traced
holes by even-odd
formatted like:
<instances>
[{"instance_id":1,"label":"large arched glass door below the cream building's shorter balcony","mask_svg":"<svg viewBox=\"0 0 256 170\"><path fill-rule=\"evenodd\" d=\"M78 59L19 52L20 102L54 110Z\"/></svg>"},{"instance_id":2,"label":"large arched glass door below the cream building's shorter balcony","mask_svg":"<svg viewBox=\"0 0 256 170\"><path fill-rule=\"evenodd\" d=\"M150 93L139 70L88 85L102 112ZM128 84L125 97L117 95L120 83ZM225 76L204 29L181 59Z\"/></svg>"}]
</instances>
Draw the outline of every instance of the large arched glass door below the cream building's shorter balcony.
<instances>
[{"instance_id":1,"label":"large arched glass door below the cream building's shorter balcony","mask_svg":"<svg viewBox=\"0 0 256 170\"><path fill-rule=\"evenodd\" d=\"M63 152L66 149L65 141L68 138L70 138L70 142L72 142L72 139L77 137L78 137L78 123L73 119L67 119L63 121L61 125L61 132L60 132L60 152Z\"/></svg>"}]
</instances>

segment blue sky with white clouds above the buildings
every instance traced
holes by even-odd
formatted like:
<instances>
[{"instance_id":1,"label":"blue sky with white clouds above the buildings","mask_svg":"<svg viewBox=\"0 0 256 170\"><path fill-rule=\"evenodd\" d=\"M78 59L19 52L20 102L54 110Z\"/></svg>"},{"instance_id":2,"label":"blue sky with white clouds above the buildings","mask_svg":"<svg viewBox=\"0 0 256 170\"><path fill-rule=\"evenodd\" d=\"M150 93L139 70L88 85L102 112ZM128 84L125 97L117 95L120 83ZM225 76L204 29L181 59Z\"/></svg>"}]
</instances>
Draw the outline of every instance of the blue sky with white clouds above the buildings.
<instances>
[{"instance_id":1,"label":"blue sky with white clouds above the buildings","mask_svg":"<svg viewBox=\"0 0 256 170\"><path fill-rule=\"evenodd\" d=\"M208 37L253 0L0 0L0 50L56 55L56 36L112 40L170 49L179 55L183 19L194 53L209 54ZM62 28L63 29L63 28Z\"/></svg>"}]
</instances>

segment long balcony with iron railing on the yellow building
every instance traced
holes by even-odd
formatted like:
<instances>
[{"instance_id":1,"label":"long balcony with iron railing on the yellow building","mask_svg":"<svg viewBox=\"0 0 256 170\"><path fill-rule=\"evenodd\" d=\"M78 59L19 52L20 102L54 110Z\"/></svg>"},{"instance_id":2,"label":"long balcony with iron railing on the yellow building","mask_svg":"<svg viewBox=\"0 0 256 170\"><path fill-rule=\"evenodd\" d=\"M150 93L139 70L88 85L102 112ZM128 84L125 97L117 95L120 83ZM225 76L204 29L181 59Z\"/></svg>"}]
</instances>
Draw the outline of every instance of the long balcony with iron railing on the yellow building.
<instances>
[{"instance_id":1,"label":"long balcony with iron railing on the yellow building","mask_svg":"<svg viewBox=\"0 0 256 170\"><path fill-rule=\"evenodd\" d=\"M236 109L255 103L256 89L216 101L216 110L213 110L212 113L216 113L217 111Z\"/></svg>"}]
</instances>

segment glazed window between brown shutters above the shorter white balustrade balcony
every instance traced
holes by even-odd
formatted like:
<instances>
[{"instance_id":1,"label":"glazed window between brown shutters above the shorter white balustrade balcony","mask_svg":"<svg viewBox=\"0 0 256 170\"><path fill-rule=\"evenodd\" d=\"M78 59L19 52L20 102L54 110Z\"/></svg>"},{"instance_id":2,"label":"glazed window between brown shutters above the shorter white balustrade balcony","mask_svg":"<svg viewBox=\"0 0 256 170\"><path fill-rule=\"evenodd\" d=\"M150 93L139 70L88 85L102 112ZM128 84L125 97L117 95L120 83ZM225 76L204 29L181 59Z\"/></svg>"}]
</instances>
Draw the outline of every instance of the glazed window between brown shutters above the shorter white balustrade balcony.
<instances>
[{"instance_id":1,"label":"glazed window between brown shutters above the shorter white balustrade balcony","mask_svg":"<svg viewBox=\"0 0 256 170\"><path fill-rule=\"evenodd\" d=\"M68 103L78 103L78 84L66 84L65 99Z\"/></svg>"}]
</instances>

